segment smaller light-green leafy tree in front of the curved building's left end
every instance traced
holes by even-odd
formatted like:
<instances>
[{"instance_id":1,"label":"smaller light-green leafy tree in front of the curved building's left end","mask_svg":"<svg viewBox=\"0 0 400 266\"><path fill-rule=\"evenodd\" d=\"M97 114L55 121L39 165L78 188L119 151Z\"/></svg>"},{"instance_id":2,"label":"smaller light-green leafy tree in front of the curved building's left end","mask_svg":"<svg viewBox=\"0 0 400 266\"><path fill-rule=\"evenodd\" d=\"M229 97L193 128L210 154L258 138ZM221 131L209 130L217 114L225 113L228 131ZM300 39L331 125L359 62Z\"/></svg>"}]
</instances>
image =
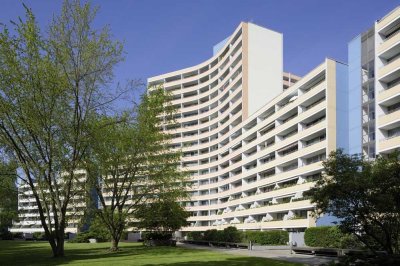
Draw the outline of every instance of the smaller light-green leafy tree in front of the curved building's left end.
<instances>
[{"instance_id":1,"label":"smaller light-green leafy tree in front of the curved building's left end","mask_svg":"<svg viewBox=\"0 0 400 266\"><path fill-rule=\"evenodd\" d=\"M132 113L99 117L112 126L93 132L86 169L101 208L97 215L110 230L110 250L118 244L134 210L159 197L178 199L186 194L181 154L168 147L162 126L174 123L170 95L163 88L144 94Z\"/></svg>"}]
</instances>

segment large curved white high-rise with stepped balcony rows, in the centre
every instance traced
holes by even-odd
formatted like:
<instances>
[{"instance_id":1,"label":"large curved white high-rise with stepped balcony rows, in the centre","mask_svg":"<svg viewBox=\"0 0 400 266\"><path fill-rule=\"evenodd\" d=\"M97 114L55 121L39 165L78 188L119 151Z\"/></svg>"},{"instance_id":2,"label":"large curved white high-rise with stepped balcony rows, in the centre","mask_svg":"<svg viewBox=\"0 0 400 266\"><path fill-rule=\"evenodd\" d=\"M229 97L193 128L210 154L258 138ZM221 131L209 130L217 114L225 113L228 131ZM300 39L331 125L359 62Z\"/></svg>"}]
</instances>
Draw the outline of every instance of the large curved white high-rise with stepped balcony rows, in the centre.
<instances>
[{"instance_id":1,"label":"large curved white high-rise with stepped balcony rows, in the centre","mask_svg":"<svg viewBox=\"0 0 400 266\"><path fill-rule=\"evenodd\" d=\"M171 148L191 172L190 226L204 231L315 226L303 196L348 129L337 99L347 65L326 59L303 78L283 72L282 35L241 23L207 61L149 78L178 108Z\"/></svg>"}]
</instances>

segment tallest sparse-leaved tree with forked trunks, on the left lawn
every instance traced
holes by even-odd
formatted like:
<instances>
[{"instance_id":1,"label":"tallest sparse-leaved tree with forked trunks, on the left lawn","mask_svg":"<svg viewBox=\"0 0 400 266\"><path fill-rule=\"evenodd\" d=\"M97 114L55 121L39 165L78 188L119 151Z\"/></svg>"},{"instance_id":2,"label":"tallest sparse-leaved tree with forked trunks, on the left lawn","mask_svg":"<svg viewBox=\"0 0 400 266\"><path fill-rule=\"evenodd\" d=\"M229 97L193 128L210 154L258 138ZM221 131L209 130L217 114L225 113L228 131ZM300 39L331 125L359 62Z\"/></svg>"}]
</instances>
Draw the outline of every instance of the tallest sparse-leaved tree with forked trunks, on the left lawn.
<instances>
[{"instance_id":1,"label":"tallest sparse-leaved tree with forked trunks, on the left lawn","mask_svg":"<svg viewBox=\"0 0 400 266\"><path fill-rule=\"evenodd\" d=\"M65 1L44 36L32 11L0 33L0 146L11 153L32 190L53 256L64 255L67 209L84 197L79 169L94 118L118 93L105 93L122 45L108 28L93 29L89 4ZM97 120L96 120L97 121ZM95 129L94 127L99 128Z\"/></svg>"}]
</instances>

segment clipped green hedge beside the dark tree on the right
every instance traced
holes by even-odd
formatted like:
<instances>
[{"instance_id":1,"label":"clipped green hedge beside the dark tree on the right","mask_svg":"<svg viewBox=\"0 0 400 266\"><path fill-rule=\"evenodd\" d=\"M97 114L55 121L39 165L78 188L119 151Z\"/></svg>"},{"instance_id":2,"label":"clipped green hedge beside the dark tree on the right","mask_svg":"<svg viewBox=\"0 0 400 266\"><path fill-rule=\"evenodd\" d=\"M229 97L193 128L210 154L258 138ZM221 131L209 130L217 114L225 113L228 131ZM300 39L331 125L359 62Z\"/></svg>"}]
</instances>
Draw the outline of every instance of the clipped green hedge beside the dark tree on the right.
<instances>
[{"instance_id":1,"label":"clipped green hedge beside the dark tree on the right","mask_svg":"<svg viewBox=\"0 0 400 266\"><path fill-rule=\"evenodd\" d=\"M304 242L309 247L341 248L344 236L337 226L310 227L304 233Z\"/></svg>"}]
</instances>

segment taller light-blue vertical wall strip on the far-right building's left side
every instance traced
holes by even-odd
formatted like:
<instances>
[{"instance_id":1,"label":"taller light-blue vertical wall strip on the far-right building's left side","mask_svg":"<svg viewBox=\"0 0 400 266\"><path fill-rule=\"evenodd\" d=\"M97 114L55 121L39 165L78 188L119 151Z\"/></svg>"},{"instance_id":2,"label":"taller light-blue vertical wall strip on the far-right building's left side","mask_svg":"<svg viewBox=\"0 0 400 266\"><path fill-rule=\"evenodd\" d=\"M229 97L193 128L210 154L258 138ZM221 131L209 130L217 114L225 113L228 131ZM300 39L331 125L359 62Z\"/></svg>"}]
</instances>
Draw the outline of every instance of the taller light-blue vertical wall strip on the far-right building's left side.
<instances>
[{"instance_id":1,"label":"taller light-blue vertical wall strip on the far-right building's left side","mask_svg":"<svg viewBox=\"0 0 400 266\"><path fill-rule=\"evenodd\" d=\"M361 35L354 38L348 46L349 85L348 85L348 153L362 152L361 124Z\"/></svg>"}]
</instances>

